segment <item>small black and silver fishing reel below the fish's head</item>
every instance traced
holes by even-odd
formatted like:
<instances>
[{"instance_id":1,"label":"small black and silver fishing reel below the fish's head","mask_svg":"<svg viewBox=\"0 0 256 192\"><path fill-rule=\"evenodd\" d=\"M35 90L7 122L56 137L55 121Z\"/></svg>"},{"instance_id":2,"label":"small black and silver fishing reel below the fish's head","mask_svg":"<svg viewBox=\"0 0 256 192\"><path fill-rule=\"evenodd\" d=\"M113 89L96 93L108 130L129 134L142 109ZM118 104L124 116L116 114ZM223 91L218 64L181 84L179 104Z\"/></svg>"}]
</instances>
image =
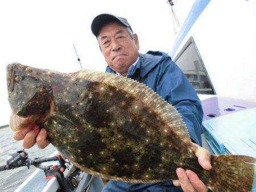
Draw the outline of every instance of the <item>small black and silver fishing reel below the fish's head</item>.
<instances>
[{"instance_id":1,"label":"small black and silver fishing reel below the fish's head","mask_svg":"<svg viewBox=\"0 0 256 192\"><path fill-rule=\"evenodd\" d=\"M9 168L15 168L16 166L26 164L27 159L28 154L23 149L22 151L10 153L10 155L7 157L7 165Z\"/></svg>"}]
</instances>

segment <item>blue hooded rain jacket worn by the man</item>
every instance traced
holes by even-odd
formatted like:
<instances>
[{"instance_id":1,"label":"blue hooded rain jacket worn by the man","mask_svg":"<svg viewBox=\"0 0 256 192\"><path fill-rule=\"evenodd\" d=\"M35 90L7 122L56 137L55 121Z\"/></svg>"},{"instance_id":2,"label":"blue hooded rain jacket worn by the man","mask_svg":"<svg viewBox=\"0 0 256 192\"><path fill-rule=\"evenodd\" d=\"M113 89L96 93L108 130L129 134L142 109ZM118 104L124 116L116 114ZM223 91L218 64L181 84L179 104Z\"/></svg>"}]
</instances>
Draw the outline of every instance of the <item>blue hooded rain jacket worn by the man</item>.
<instances>
[{"instance_id":1,"label":"blue hooded rain jacket worn by the man","mask_svg":"<svg viewBox=\"0 0 256 192\"><path fill-rule=\"evenodd\" d=\"M106 72L116 73L109 66ZM201 145L201 102L187 77L170 56L163 52L140 53L138 63L127 77L146 84L174 106L187 125L192 140Z\"/></svg>"}]
</instances>

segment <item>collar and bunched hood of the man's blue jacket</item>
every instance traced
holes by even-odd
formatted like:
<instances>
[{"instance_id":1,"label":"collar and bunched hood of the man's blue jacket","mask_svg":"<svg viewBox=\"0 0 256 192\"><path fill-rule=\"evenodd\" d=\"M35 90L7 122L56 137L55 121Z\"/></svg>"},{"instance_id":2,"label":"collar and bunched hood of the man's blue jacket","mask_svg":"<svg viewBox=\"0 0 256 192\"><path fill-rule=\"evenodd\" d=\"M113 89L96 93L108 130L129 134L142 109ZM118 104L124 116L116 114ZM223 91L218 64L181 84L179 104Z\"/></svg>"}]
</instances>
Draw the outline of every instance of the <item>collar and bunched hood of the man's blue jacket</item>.
<instances>
[{"instance_id":1,"label":"collar and bunched hood of the man's blue jacket","mask_svg":"<svg viewBox=\"0 0 256 192\"><path fill-rule=\"evenodd\" d=\"M148 51L146 54L139 53L139 61L135 65L133 69L133 73L131 76L134 76L137 71L139 71L140 76L144 77L152 68L159 64L160 61L166 59L168 56L164 52L160 51ZM113 69L109 66L106 67L106 72L108 73L116 73Z\"/></svg>"}]
</instances>

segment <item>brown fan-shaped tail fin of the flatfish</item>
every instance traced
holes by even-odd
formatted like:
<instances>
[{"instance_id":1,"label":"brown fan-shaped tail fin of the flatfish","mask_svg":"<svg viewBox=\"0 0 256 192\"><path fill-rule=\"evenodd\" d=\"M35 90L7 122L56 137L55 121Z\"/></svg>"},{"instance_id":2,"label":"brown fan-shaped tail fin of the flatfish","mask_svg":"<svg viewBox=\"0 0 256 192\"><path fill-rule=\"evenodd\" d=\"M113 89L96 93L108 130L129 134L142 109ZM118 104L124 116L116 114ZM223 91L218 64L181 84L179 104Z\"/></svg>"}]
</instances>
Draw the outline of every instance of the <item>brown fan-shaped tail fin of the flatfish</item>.
<instances>
[{"instance_id":1,"label":"brown fan-shaped tail fin of the flatfish","mask_svg":"<svg viewBox=\"0 0 256 192\"><path fill-rule=\"evenodd\" d=\"M254 191L256 158L241 155L212 155L208 187L212 191Z\"/></svg>"}]
</instances>

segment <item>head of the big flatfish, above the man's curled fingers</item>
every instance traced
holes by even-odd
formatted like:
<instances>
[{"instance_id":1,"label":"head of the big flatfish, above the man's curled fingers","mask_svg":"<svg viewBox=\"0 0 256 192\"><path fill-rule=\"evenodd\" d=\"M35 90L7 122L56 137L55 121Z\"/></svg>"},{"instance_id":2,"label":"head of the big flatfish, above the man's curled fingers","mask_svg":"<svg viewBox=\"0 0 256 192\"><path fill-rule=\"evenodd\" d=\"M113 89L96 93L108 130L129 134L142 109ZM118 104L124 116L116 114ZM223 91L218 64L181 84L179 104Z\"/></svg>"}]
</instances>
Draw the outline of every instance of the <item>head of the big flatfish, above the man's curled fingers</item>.
<instances>
[{"instance_id":1,"label":"head of the big flatfish, above the man's curled fingers","mask_svg":"<svg viewBox=\"0 0 256 192\"><path fill-rule=\"evenodd\" d=\"M45 115L50 109L51 87L44 70L18 63L6 67L8 100L14 114L22 117Z\"/></svg>"}]
</instances>

